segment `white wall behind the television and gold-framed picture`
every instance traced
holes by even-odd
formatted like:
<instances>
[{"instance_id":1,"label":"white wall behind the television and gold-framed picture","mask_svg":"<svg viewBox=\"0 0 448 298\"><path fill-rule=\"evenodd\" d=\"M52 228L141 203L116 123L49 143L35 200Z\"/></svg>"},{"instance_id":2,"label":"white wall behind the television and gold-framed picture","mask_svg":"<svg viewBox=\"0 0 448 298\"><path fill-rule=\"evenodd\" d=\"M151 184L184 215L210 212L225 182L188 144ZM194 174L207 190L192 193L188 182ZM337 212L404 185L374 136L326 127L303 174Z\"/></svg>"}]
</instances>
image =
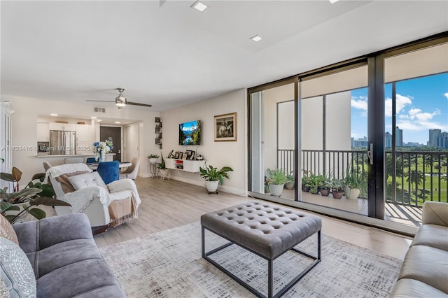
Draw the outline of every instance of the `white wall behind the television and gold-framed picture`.
<instances>
[{"instance_id":1,"label":"white wall behind the television and gold-framed picture","mask_svg":"<svg viewBox=\"0 0 448 298\"><path fill-rule=\"evenodd\" d=\"M237 113L237 141L214 141L214 115ZM221 190L246 195L247 190L247 133L246 133L246 90L240 89L218 97L199 101L188 106L174 108L160 113L162 120L162 151L167 157L171 150L185 152L194 150L207 159L207 164L221 169L230 166L229 173ZM201 145L179 146L179 124L191 120L201 120ZM151 139L154 141L153 139ZM188 173L170 169L170 178L195 185L204 185L199 173Z\"/></svg>"}]
</instances>

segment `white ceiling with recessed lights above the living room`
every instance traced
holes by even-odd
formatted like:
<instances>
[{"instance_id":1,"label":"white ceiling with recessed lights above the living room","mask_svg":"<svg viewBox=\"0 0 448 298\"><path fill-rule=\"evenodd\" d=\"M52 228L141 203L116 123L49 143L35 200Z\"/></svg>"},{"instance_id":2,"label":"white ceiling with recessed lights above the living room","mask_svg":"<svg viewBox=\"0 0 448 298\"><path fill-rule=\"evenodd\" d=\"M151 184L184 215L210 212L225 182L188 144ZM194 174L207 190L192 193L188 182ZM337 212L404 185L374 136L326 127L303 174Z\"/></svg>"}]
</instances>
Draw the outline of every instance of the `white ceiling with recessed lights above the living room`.
<instances>
[{"instance_id":1,"label":"white ceiling with recessed lights above the living room","mask_svg":"<svg viewBox=\"0 0 448 298\"><path fill-rule=\"evenodd\" d=\"M164 111L448 30L448 1L194 2L1 1L1 97Z\"/></svg>"}]
</instances>

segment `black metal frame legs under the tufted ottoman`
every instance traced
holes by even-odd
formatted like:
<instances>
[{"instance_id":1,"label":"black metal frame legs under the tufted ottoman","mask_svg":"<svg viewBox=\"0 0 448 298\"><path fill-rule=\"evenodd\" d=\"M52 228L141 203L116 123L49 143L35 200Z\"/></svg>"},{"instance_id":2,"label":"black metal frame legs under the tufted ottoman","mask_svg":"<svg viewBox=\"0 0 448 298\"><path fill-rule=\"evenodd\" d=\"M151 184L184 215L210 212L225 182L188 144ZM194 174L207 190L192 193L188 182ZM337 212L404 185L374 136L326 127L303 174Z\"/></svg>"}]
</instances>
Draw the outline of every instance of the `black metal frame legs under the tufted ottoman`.
<instances>
[{"instance_id":1,"label":"black metal frame legs under the tufted ottoman","mask_svg":"<svg viewBox=\"0 0 448 298\"><path fill-rule=\"evenodd\" d=\"M227 274L228 276L230 276L231 278L233 278L235 281L237 281L237 283L239 283L240 285L242 285L244 288L246 288L247 290L251 291L254 295L256 295L257 297L266 297L265 295L262 295L262 293L258 292L258 290L255 290L255 288L252 288L250 285L248 285L246 282L242 281L240 278L238 278L237 276L235 276L235 274L232 274L232 272L228 271L227 269L225 269L224 267L222 267L220 264L218 264L217 262L215 262L214 260L211 260L211 258L209 257L209 255L213 255L214 253L217 253L220 250L223 250L224 248L227 248L228 246L232 246L233 244L236 244L237 246L240 246L246 250L251 251L251 253L255 253L255 255L258 255L260 257L262 257L263 259L267 260L267 297L268 298L276 298L276 297L281 297L281 295L283 295L286 291L288 291L291 287L293 287L293 285L295 285L295 283L297 283L298 281L300 281L300 279L307 274L313 267L316 266L316 264L318 264L319 262L321 262L321 230L318 230L317 234L317 257L314 257L312 255L309 255L307 253L303 253L300 250L297 250L295 248L290 248L290 250L295 251L296 253L300 253L302 255L305 255L309 258L311 258L313 260L313 262L311 264L308 265L307 268L305 268L299 275L297 275L295 278L293 278L292 281L290 281L290 283L288 283L287 285L285 285L283 287L283 289L279 290L279 292L276 293L276 295L274 295L273 291L274 291L274 287L273 287L273 267L274 267L274 260L279 257L280 255L277 255L276 257L270 259L268 257L265 257L263 255L260 255L260 253L256 253L255 251L246 248L245 246L242 246L239 243L235 243L234 241L228 239L227 237L220 235L216 232L212 232L209 230L210 232L217 234L218 236L223 237L224 239L227 239L228 241L230 241L229 243L226 243L223 246L220 246L218 248L215 248L214 250L210 250L209 252L205 252L205 229L207 229L206 227L204 227L202 225L202 257L207 260L208 262L210 262L211 264L213 264L216 268L220 269L221 271L223 271L225 274ZM297 244L299 243L295 243L295 246L297 246ZM285 250L283 253L286 253L288 250ZM283 255L283 253L281 255Z\"/></svg>"}]
</instances>

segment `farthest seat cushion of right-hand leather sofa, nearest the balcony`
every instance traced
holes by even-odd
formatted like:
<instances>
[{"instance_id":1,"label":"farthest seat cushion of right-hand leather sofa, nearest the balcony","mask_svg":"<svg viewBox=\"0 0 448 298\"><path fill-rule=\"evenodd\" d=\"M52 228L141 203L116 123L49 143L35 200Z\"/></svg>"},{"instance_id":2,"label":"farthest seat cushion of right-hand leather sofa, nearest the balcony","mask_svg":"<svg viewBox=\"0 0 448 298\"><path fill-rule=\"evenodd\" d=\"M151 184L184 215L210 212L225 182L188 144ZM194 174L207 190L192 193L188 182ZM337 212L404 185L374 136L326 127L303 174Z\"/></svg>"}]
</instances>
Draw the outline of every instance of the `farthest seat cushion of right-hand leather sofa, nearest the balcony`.
<instances>
[{"instance_id":1,"label":"farthest seat cushion of right-hand leather sofa, nearest the balcony","mask_svg":"<svg viewBox=\"0 0 448 298\"><path fill-rule=\"evenodd\" d=\"M448 227L423 225L415 234L411 246L430 246L448 251Z\"/></svg>"}]
</instances>

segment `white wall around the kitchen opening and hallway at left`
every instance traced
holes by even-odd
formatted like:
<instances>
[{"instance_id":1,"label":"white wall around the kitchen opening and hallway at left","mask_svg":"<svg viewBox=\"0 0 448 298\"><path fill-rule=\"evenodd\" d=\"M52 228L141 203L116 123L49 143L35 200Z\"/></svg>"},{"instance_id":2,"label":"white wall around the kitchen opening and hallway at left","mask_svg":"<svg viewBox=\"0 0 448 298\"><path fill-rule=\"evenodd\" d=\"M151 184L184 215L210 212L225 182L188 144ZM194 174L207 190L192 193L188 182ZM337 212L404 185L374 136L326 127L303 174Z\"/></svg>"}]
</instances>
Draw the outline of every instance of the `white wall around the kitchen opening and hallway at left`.
<instances>
[{"instance_id":1,"label":"white wall around the kitchen opening and hallway at left","mask_svg":"<svg viewBox=\"0 0 448 298\"><path fill-rule=\"evenodd\" d=\"M90 118L93 106L83 104L71 104L64 101L48 101L44 99L31 99L26 97L2 96L2 101L10 101L15 113L13 114L13 146L31 147L33 150L21 150L13 152L13 166L23 172L21 187L31 180L35 173L42 173L42 162L50 162L52 165L62 164L62 157L37 157L35 147L37 145L36 123L38 115L57 113L72 118ZM116 118L123 120L135 120L141 123L140 143L140 176L151 176L149 173L148 152L154 152L158 146L154 144L154 118L159 113L150 111L115 107L106 108L106 113L96 113L104 118ZM98 127L99 132L99 127ZM157 149L158 150L158 149Z\"/></svg>"}]
</instances>

